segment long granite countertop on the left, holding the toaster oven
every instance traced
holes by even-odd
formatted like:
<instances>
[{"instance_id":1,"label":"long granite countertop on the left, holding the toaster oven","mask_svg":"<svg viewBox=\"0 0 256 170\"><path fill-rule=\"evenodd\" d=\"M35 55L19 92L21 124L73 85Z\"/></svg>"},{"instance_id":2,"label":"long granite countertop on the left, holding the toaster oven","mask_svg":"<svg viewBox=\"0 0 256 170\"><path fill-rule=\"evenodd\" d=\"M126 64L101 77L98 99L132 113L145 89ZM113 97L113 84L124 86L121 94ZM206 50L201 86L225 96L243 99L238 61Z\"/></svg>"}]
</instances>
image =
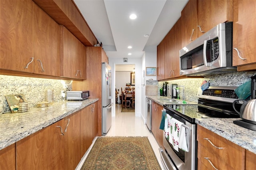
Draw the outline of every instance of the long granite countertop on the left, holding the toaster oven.
<instances>
[{"instance_id":1,"label":"long granite countertop on the left, holding the toaster oven","mask_svg":"<svg viewBox=\"0 0 256 170\"><path fill-rule=\"evenodd\" d=\"M59 101L48 107L32 107L28 112L1 114L0 150L96 101L98 99Z\"/></svg>"}]
</instances>

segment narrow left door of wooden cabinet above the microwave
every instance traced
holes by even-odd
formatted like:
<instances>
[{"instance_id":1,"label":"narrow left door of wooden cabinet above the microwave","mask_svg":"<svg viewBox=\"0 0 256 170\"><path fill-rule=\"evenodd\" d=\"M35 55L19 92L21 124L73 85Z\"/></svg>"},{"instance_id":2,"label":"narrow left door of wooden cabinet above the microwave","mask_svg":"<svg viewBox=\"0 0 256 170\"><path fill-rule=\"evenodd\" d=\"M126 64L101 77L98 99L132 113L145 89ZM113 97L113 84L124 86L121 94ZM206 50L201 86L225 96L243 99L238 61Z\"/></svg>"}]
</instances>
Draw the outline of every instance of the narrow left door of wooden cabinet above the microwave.
<instances>
[{"instance_id":1,"label":"narrow left door of wooden cabinet above the microwave","mask_svg":"<svg viewBox=\"0 0 256 170\"><path fill-rule=\"evenodd\" d=\"M189 0L181 12L182 47L198 38L197 0Z\"/></svg>"}]
</instances>

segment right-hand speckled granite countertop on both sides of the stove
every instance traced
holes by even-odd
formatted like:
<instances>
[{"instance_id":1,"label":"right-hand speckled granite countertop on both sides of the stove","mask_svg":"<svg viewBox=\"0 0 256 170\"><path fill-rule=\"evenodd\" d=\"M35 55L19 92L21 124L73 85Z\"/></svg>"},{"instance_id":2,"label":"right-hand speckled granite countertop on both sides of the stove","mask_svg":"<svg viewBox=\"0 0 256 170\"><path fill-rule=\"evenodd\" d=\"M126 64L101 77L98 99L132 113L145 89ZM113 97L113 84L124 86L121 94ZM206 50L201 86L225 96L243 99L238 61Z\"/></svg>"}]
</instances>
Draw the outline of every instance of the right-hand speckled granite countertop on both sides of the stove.
<instances>
[{"instance_id":1,"label":"right-hand speckled granite countertop on both sides of the stove","mask_svg":"<svg viewBox=\"0 0 256 170\"><path fill-rule=\"evenodd\" d=\"M164 105L161 99L169 99L164 96L146 96L154 102ZM196 103L197 104L197 103ZM196 123L208 130L230 140L231 142L256 154L256 131L240 127L233 123L239 118L200 118Z\"/></svg>"}]
</instances>

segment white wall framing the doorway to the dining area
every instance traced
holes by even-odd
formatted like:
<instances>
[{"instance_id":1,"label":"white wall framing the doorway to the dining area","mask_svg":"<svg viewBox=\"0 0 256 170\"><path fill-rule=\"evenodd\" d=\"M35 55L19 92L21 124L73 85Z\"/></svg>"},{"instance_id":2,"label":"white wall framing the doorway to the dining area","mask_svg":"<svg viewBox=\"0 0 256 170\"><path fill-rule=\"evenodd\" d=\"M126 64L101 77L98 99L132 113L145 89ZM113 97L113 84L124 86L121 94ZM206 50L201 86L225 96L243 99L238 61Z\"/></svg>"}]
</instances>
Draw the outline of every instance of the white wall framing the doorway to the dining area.
<instances>
[{"instance_id":1,"label":"white wall framing the doorway to the dining area","mask_svg":"<svg viewBox=\"0 0 256 170\"><path fill-rule=\"evenodd\" d=\"M116 64L135 64L135 116L140 117L142 113L142 100L141 100L141 83L142 83L142 63L141 58L128 58L128 62L124 62L123 58L110 58L109 57L109 65L112 68L112 79L113 82L116 82ZM130 82L130 81L129 81ZM126 82L124 82L125 84ZM114 83L113 83L114 84ZM114 86L114 85L113 85ZM115 87L113 87L115 89ZM145 93L144 93L145 94ZM115 96L115 90L113 90L113 96ZM115 97L113 98L113 103L115 103ZM115 116L116 114L116 107L114 107L114 111L112 112L112 116Z\"/></svg>"}]
</instances>

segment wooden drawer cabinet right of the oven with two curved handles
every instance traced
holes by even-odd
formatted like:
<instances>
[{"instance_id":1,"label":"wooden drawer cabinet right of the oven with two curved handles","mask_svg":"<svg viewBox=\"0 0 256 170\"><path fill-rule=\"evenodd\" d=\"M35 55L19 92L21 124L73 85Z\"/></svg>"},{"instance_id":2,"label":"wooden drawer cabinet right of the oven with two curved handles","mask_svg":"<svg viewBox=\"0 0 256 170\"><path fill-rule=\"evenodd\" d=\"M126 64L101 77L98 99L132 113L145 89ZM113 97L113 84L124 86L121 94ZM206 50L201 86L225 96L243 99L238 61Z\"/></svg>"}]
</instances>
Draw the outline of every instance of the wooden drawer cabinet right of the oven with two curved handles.
<instances>
[{"instance_id":1,"label":"wooden drawer cabinet right of the oven with two curved handles","mask_svg":"<svg viewBox=\"0 0 256 170\"><path fill-rule=\"evenodd\" d=\"M246 150L244 148L200 125L197 126L197 130L198 170L214 169L213 166L223 170L245 169Z\"/></svg>"}]
</instances>

